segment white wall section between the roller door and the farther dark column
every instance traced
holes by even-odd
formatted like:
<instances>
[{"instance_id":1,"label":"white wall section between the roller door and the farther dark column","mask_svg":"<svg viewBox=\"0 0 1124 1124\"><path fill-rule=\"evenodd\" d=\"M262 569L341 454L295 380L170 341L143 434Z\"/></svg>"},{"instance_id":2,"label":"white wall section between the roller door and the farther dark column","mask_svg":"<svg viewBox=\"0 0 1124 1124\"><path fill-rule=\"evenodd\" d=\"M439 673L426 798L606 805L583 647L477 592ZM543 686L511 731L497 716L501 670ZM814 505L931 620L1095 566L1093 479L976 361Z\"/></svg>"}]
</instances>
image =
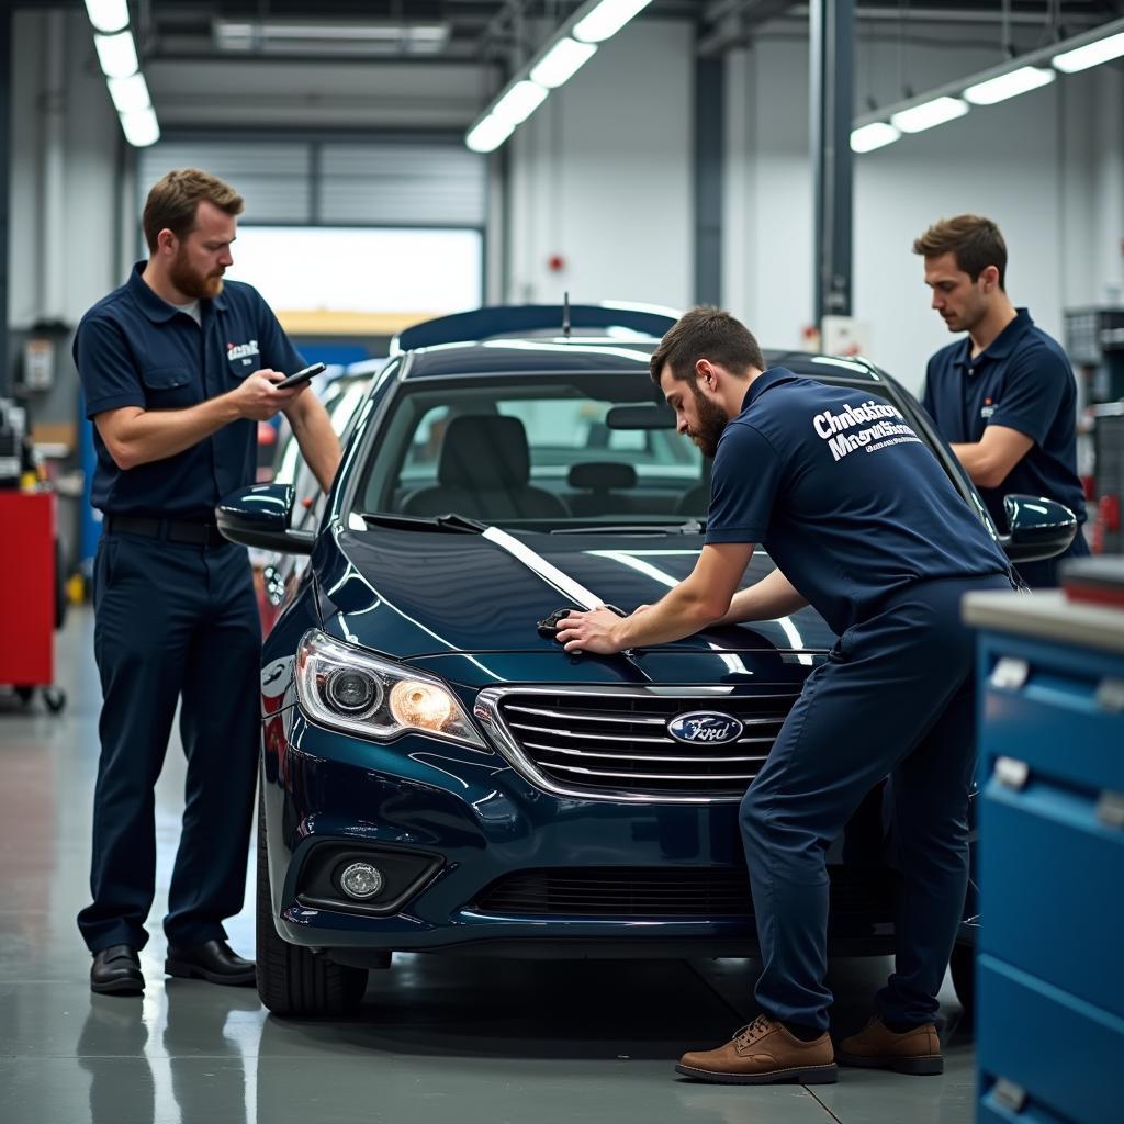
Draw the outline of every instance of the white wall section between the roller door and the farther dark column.
<instances>
[{"instance_id":1,"label":"white wall section between the roller door and the farther dark column","mask_svg":"<svg viewBox=\"0 0 1124 1124\"><path fill-rule=\"evenodd\" d=\"M641 20L516 130L507 298L690 303L692 87L689 26Z\"/></svg>"}]
</instances>

